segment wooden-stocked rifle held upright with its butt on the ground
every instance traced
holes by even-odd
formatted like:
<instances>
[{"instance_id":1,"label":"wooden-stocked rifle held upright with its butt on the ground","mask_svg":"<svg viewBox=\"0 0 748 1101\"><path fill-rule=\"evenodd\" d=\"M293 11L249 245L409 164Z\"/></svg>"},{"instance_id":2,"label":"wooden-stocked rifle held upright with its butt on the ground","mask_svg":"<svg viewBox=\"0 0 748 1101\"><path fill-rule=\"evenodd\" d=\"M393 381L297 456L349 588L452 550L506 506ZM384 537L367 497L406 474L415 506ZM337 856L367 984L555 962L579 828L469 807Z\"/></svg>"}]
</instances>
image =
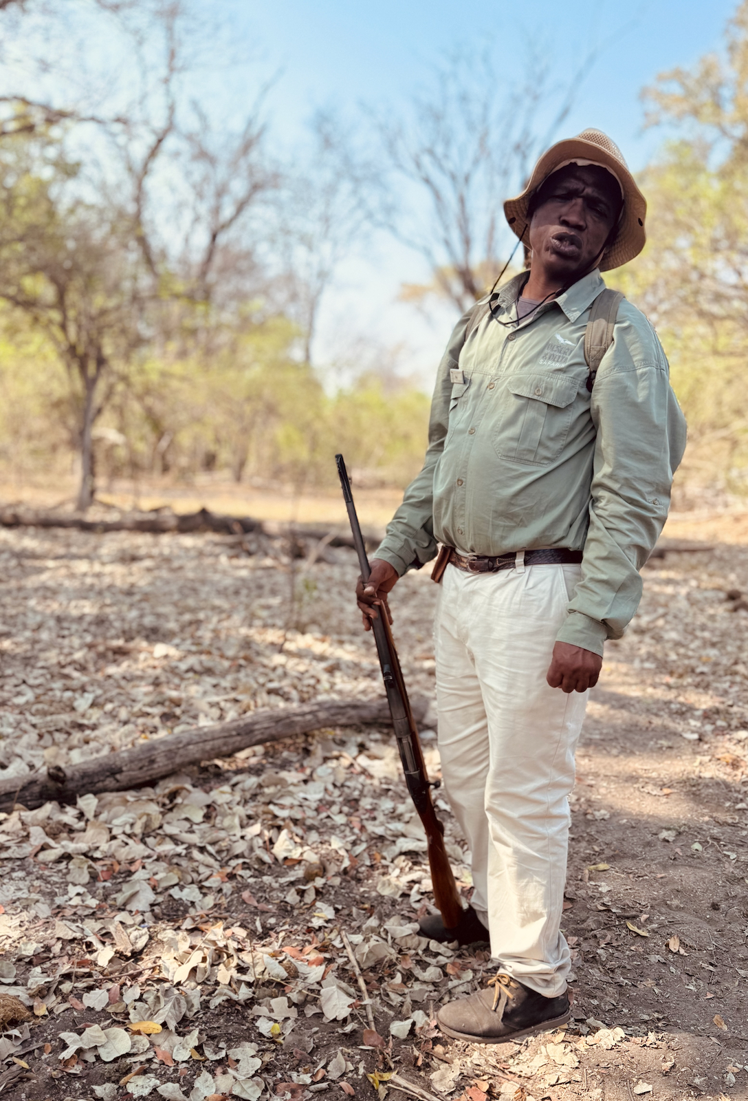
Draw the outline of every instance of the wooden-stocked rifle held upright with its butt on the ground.
<instances>
[{"instance_id":1,"label":"wooden-stocked rifle held upright with its butt on the ground","mask_svg":"<svg viewBox=\"0 0 748 1101\"><path fill-rule=\"evenodd\" d=\"M340 484L343 490L345 508L348 509L348 517L351 521L353 544L359 555L361 576L365 582L369 580L371 567L366 557L366 547L361 534L361 526L351 492L351 483L342 455L336 455L336 462L338 464L338 475L340 476ZM418 738L418 728L410 710L392 629L383 608L378 610L377 618L372 622L372 630L377 654L380 655L382 679L384 680L387 694L387 702L389 704L389 713L392 715L393 727L395 728L395 738L400 754L403 772L405 773L405 782L408 786L410 798L418 811L418 817L426 830L433 898L441 912L446 928L453 929L457 927L462 915L462 903L460 902L458 886L454 882L452 869L450 868L447 850L444 849L444 827L437 818L437 813L431 802L432 785L429 783L428 773L426 772L426 762L424 761L424 752Z\"/></svg>"}]
</instances>

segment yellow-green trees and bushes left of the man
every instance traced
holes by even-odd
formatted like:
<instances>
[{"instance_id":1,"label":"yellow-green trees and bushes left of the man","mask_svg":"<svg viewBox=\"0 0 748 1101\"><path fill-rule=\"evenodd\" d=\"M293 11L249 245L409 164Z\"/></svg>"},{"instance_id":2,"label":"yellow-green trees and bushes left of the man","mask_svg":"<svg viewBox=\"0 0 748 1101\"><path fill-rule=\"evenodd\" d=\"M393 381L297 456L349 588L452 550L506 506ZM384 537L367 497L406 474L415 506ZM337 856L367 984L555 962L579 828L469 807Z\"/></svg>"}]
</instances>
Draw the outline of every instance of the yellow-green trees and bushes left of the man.
<instances>
[{"instance_id":1,"label":"yellow-green trees and bushes left of the man","mask_svg":"<svg viewBox=\"0 0 748 1101\"><path fill-rule=\"evenodd\" d=\"M154 277L132 215L89 201L77 172L48 133L0 142L0 465L22 479L79 453L84 489L95 469L217 470L300 493L334 482L342 448L370 482L407 483L424 394L374 377L326 393L297 326L263 302L196 298L165 264Z\"/></svg>"}]
</instances>

